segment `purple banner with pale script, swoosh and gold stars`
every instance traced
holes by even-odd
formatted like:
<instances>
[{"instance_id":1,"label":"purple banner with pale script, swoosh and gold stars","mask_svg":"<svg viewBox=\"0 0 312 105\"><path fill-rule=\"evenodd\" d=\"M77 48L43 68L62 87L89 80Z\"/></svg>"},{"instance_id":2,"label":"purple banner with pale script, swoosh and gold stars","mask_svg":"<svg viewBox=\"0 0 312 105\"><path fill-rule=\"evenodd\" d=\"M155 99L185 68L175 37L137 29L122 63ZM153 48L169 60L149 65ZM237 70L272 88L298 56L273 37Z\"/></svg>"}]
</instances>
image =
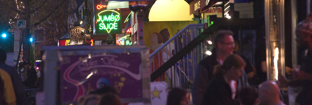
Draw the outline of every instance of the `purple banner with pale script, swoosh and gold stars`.
<instances>
[{"instance_id":1,"label":"purple banner with pale script, swoosh and gold stars","mask_svg":"<svg viewBox=\"0 0 312 105\"><path fill-rule=\"evenodd\" d=\"M140 53L63 56L61 101L77 101L101 85L114 86L120 98L142 98Z\"/></svg>"}]
</instances>

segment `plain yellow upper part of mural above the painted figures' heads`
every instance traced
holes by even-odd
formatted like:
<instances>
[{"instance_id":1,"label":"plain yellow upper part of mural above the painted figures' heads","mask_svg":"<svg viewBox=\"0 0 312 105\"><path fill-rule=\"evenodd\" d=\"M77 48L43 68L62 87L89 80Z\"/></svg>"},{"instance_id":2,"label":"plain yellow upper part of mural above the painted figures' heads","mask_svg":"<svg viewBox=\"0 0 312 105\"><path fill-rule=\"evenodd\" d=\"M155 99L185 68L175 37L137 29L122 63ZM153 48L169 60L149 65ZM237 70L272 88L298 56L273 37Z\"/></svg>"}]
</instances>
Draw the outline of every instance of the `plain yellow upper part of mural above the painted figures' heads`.
<instances>
[{"instance_id":1,"label":"plain yellow upper part of mural above the painted figures' heads","mask_svg":"<svg viewBox=\"0 0 312 105\"><path fill-rule=\"evenodd\" d=\"M159 33L161 30L168 28L170 37L173 37L178 31L183 29L188 24L197 24L197 21L155 21L155 22L144 22L144 44L149 47L151 42L151 36L154 32ZM150 52L151 53L151 52Z\"/></svg>"}]
</instances>

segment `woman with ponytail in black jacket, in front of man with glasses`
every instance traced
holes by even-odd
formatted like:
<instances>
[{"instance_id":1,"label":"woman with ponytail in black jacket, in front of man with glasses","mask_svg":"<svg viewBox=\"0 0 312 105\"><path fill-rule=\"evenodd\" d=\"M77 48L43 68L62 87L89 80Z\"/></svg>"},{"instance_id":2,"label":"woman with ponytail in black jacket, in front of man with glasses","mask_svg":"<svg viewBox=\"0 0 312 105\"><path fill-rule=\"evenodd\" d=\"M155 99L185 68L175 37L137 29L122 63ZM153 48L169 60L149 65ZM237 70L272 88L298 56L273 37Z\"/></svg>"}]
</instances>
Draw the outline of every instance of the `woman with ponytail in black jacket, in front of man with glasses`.
<instances>
[{"instance_id":1,"label":"woman with ponytail in black jacket, in front of man with glasses","mask_svg":"<svg viewBox=\"0 0 312 105\"><path fill-rule=\"evenodd\" d=\"M222 65L215 66L215 77L209 83L202 105L239 105L236 81L244 72L246 63L237 54L229 55Z\"/></svg>"}]
</instances>

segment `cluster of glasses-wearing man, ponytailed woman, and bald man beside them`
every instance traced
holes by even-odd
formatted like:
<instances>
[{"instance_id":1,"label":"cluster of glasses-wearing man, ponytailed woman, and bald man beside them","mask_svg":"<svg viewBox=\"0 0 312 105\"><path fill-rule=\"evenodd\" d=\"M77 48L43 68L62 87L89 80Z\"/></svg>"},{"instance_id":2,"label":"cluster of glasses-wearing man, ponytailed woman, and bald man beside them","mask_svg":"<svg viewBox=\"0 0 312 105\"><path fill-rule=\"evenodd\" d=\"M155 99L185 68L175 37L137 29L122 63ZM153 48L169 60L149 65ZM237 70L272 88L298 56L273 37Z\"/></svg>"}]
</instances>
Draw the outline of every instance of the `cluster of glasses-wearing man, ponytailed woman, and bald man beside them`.
<instances>
[{"instance_id":1,"label":"cluster of glasses-wearing man, ponytailed woman, and bald man beside them","mask_svg":"<svg viewBox=\"0 0 312 105\"><path fill-rule=\"evenodd\" d=\"M212 54L198 66L191 89L194 105L284 105L278 85L264 81L259 87L248 83L249 61L234 51L233 32L220 30ZM258 88L259 90L257 90Z\"/></svg>"}]
</instances>

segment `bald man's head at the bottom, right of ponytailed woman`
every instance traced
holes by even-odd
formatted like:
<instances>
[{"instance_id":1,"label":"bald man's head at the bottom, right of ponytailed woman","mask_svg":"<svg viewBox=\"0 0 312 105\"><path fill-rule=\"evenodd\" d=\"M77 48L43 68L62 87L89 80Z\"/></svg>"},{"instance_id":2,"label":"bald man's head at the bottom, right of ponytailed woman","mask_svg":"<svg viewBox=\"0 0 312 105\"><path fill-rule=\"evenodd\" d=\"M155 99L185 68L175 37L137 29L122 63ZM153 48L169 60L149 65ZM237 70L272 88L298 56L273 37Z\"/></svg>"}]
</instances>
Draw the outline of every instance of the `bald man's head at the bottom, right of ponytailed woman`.
<instances>
[{"instance_id":1,"label":"bald man's head at the bottom, right of ponytailed woman","mask_svg":"<svg viewBox=\"0 0 312 105\"><path fill-rule=\"evenodd\" d=\"M266 81L260 84L258 90L259 99L261 103L268 104L273 102L280 102L279 87L275 82Z\"/></svg>"}]
</instances>

